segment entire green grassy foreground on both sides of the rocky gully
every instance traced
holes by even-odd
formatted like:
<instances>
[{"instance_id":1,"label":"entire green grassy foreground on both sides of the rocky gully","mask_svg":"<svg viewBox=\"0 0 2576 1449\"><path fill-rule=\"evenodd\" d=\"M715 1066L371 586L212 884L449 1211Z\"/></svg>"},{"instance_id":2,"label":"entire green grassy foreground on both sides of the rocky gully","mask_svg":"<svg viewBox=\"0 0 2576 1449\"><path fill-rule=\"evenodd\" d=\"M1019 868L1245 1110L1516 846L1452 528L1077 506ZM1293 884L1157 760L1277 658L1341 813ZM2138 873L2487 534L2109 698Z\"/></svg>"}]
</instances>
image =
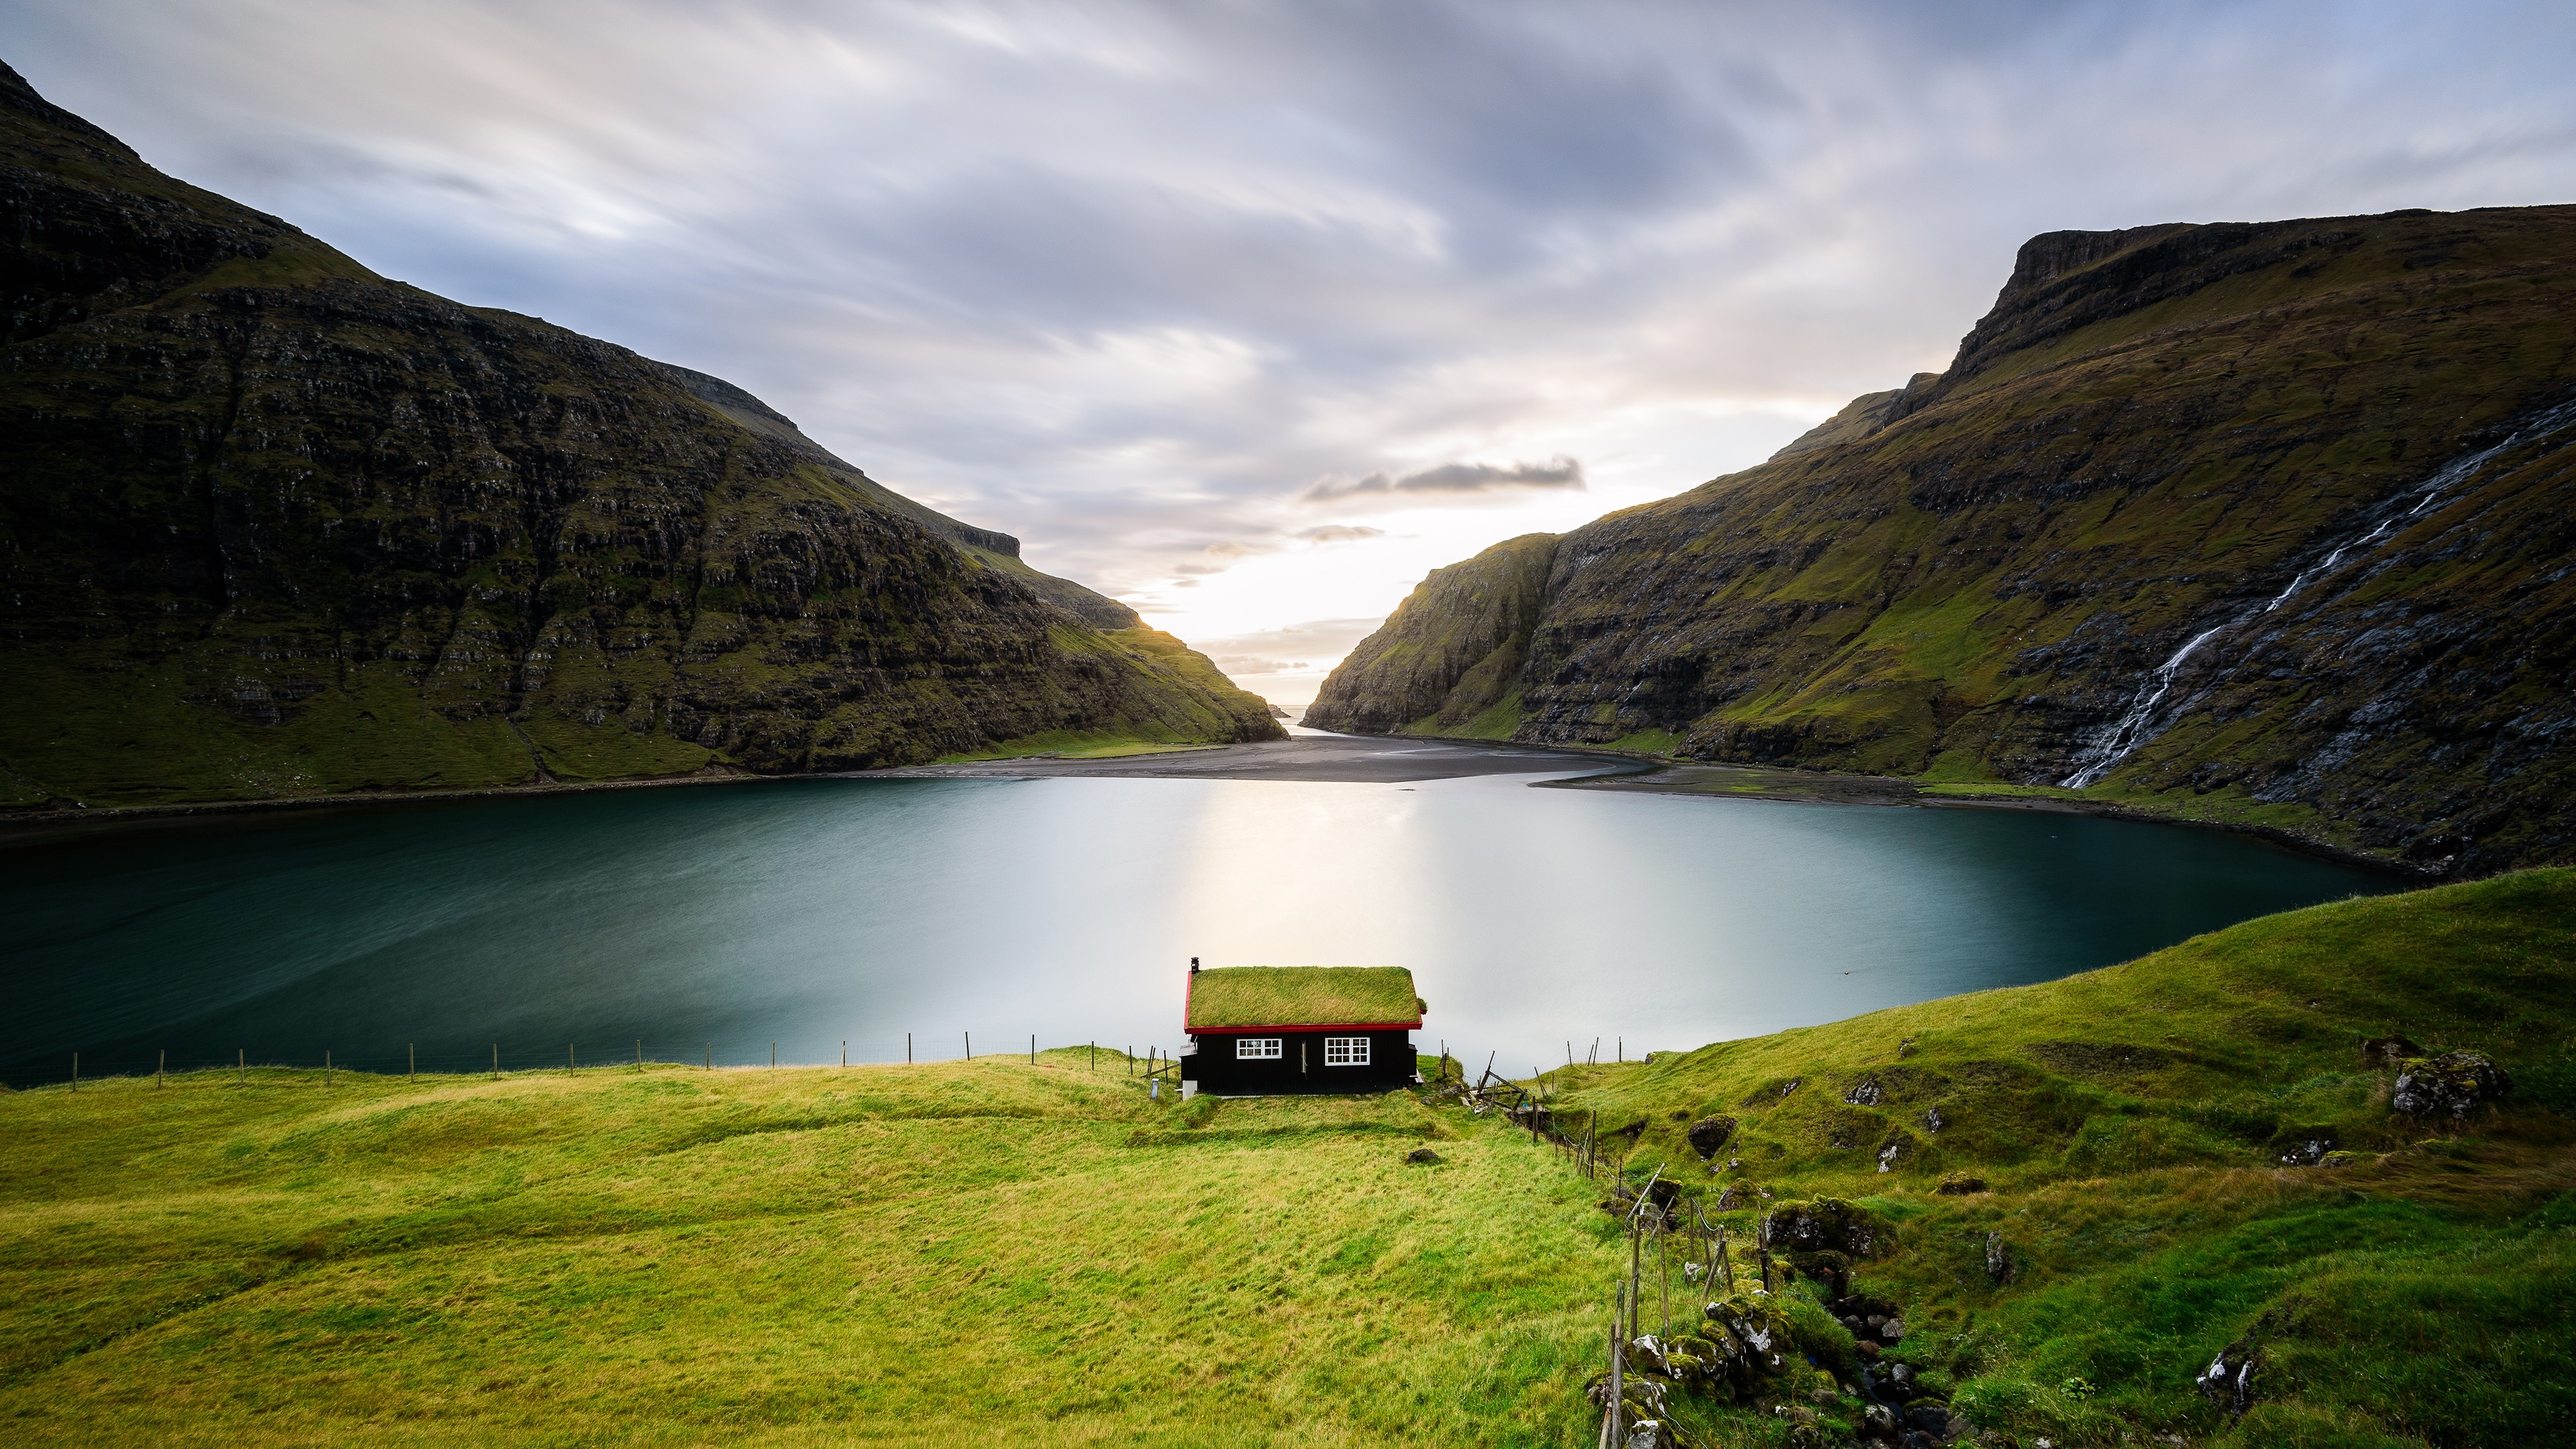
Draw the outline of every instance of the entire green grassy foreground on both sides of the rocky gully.
<instances>
[{"instance_id":1,"label":"entire green grassy foreground on both sides of the rocky gully","mask_svg":"<svg viewBox=\"0 0 2576 1449\"><path fill-rule=\"evenodd\" d=\"M2514 1088L2465 1122L2393 1116L2357 1052L2385 1031L2488 1052ZM1180 1106L1123 1067L0 1096L0 1434L1592 1441L1625 1266L1597 1183L1406 1093ZM1850 1101L1865 1083L1878 1101ZM1996 1444L2540 1444L2576 1418L2576 871L1548 1088L1636 1122L1631 1178L1680 1176L1739 1245L1795 1199L1888 1220L1855 1274L1909 1325L1880 1366ZM1685 1132L1713 1114L1739 1127L1703 1163ZM2349 1163L2280 1165L2313 1140ZM1445 1160L1406 1165L1419 1145ZM1989 1191L1937 1191L1955 1173ZM1685 1408L1695 1439L1857 1421L1850 1333L1814 1284L1785 1297L1790 1374L1759 1408ZM2228 1343L2262 1356L2241 1421L2192 1390Z\"/></svg>"}]
</instances>

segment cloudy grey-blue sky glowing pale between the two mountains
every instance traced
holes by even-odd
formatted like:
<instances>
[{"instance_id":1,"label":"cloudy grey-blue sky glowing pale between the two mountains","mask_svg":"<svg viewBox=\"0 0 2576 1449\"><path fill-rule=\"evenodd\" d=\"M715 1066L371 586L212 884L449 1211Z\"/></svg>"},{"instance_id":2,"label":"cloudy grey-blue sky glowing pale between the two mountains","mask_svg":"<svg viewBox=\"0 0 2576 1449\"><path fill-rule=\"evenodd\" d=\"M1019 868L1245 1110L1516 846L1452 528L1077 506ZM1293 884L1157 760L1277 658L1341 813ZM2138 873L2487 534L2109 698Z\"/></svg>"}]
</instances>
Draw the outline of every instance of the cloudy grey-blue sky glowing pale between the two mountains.
<instances>
[{"instance_id":1,"label":"cloudy grey-blue sky glowing pale between the two mountains","mask_svg":"<svg viewBox=\"0 0 2576 1449\"><path fill-rule=\"evenodd\" d=\"M1291 709L2053 229L2576 201L2576 5L0 0L379 273L726 376Z\"/></svg>"}]
</instances>

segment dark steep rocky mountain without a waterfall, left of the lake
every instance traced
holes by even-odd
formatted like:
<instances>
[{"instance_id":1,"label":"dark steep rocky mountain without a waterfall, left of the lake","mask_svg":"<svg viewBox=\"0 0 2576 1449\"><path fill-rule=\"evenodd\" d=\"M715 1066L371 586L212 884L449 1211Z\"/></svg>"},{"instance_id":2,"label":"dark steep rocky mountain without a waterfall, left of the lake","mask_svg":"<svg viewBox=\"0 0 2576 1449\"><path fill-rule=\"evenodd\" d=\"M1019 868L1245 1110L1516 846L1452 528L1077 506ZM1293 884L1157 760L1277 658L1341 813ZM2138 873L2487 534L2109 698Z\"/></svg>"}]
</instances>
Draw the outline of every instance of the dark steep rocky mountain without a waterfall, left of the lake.
<instances>
[{"instance_id":1,"label":"dark steep rocky mountain without a waterfall, left of the lake","mask_svg":"<svg viewBox=\"0 0 2576 1449\"><path fill-rule=\"evenodd\" d=\"M461 307L0 67L0 804L1267 740L721 379Z\"/></svg>"}]
</instances>

